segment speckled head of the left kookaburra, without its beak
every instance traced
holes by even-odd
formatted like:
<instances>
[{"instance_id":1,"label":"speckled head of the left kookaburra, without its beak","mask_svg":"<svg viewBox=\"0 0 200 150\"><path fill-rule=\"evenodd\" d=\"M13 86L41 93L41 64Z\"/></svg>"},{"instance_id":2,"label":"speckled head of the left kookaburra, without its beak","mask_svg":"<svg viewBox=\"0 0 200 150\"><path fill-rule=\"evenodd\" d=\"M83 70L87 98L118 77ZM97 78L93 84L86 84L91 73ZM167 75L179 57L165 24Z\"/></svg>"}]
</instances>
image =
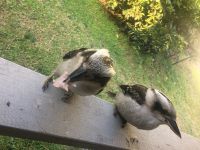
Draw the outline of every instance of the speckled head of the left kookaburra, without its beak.
<instances>
[{"instance_id":1,"label":"speckled head of the left kookaburra, without its beak","mask_svg":"<svg viewBox=\"0 0 200 150\"><path fill-rule=\"evenodd\" d=\"M115 75L113 60L110 58L107 49L97 49L97 51L90 56L88 64L90 69L95 70L102 76L112 77Z\"/></svg>"}]
</instances>

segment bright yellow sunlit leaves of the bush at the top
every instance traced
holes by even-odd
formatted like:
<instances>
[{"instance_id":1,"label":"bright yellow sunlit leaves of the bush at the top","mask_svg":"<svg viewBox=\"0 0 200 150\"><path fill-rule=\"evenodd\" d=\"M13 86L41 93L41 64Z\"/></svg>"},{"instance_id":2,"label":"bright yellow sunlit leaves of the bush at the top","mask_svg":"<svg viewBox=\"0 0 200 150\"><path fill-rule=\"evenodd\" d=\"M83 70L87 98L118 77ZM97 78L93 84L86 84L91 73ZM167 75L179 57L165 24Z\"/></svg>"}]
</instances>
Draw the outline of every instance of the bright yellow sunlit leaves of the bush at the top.
<instances>
[{"instance_id":1,"label":"bright yellow sunlit leaves of the bush at the top","mask_svg":"<svg viewBox=\"0 0 200 150\"><path fill-rule=\"evenodd\" d=\"M133 29L152 27L162 17L159 0L109 0L108 8Z\"/></svg>"}]
</instances>

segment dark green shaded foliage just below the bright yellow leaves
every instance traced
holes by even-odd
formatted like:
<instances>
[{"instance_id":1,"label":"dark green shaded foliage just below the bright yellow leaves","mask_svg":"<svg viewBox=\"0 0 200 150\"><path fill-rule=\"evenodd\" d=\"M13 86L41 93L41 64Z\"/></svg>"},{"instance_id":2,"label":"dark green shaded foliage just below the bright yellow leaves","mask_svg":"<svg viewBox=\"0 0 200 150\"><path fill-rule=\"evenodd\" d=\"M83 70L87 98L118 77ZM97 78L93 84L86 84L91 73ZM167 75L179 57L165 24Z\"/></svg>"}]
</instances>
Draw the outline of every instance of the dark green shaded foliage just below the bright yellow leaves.
<instances>
[{"instance_id":1,"label":"dark green shaded foliage just below the bright yellow leaves","mask_svg":"<svg viewBox=\"0 0 200 150\"><path fill-rule=\"evenodd\" d=\"M130 30L128 34L130 41L142 53L167 52L167 54L171 54L183 51L186 46L182 36L162 24L156 24L152 28L143 31Z\"/></svg>"}]
</instances>

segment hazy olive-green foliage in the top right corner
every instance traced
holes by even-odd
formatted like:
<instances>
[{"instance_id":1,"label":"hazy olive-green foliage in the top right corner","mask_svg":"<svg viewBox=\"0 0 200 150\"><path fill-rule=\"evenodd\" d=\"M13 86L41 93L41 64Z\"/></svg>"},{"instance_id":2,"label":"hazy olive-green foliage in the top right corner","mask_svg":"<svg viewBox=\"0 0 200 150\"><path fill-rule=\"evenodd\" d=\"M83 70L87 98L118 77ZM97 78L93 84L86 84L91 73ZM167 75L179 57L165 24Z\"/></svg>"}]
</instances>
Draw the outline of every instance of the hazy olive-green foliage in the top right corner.
<instances>
[{"instance_id":1,"label":"hazy olive-green foliage in the top right corner","mask_svg":"<svg viewBox=\"0 0 200 150\"><path fill-rule=\"evenodd\" d=\"M187 34L191 27L200 27L200 0L161 0L163 22L172 24L179 33Z\"/></svg>"}]
</instances>

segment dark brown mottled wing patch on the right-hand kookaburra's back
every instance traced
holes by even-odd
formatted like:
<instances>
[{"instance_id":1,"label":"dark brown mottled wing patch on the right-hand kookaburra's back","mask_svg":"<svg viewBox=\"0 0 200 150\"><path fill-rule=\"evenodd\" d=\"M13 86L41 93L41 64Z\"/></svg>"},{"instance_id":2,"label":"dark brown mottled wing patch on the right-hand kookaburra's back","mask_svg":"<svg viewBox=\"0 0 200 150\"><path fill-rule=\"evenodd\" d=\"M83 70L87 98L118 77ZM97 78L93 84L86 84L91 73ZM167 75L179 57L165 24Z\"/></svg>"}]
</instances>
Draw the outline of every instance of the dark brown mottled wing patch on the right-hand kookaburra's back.
<instances>
[{"instance_id":1,"label":"dark brown mottled wing patch on the right-hand kookaburra's back","mask_svg":"<svg viewBox=\"0 0 200 150\"><path fill-rule=\"evenodd\" d=\"M142 105L145 103L145 95L147 87L139 84L135 85L120 85L124 95L130 96L138 104Z\"/></svg>"}]
</instances>

